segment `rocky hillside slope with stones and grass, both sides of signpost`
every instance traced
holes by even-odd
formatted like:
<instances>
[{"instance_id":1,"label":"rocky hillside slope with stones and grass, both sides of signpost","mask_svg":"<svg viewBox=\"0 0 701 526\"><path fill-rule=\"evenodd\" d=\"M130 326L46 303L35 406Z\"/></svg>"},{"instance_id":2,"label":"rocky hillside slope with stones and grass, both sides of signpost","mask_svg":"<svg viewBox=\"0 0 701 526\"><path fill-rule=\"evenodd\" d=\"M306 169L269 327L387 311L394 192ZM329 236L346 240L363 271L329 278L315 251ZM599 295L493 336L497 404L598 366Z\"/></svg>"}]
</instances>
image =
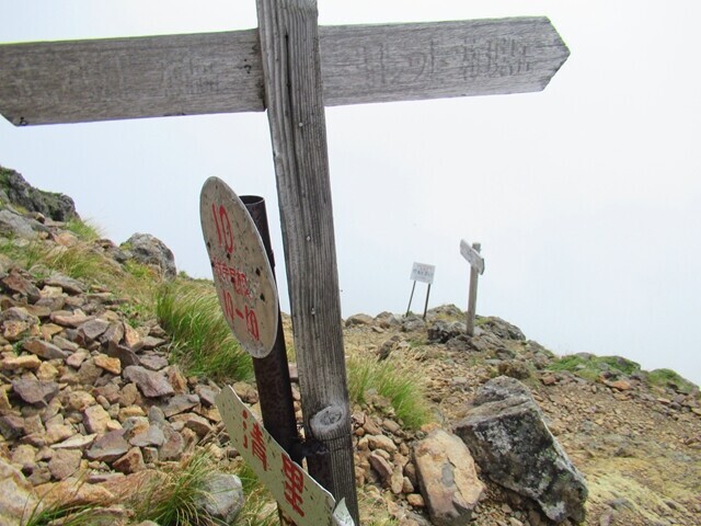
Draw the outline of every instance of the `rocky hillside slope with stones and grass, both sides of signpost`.
<instances>
[{"instance_id":1,"label":"rocky hillside slope with stones and grass, both sides of signpost","mask_svg":"<svg viewBox=\"0 0 701 526\"><path fill-rule=\"evenodd\" d=\"M180 466L199 450L218 469L240 472L212 396L235 382L255 409L250 365L226 373L192 368L194 345L183 343L179 327L156 307L165 283L194 284L209 294L211 285L173 281L164 245L153 242L150 255L139 255L136 240L117 247L101 239L69 198L43 196L10 172L0 168L0 467L16 470L27 494L61 484L90 489L111 514L94 524L124 525L138 524L119 496L119 484L133 485L131 477ZM10 199L20 194L28 198ZM211 305L206 309L218 310ZM495 317L479 317L469 338L463 321L453 306L432 309L426 321L391 313L345 321L363 524L432 524L416 483L414 446L432 430L452 430L478 390L499 375L528 387L550 432L584 473L584 524L701 524L698 387L622 357L558 357ZM294 357L288 317L284 325ZM217 338L221 353L227 336ZM239 358L234 351L230 361ZM364 384L377 367L392 381L406 380L402 389L416 389L420 399L410 403L402 391L394 400ZM296 387L294 393L299 411ZM383 448L392 451L382 453L388 472L377 464ZM480 477L486 491L470 524L551 524L533 501ZM19 496L0 495L0 518L3 504ZM244 508L231 524L274 522L268 502Z\"/></svg>"}]
</instances>

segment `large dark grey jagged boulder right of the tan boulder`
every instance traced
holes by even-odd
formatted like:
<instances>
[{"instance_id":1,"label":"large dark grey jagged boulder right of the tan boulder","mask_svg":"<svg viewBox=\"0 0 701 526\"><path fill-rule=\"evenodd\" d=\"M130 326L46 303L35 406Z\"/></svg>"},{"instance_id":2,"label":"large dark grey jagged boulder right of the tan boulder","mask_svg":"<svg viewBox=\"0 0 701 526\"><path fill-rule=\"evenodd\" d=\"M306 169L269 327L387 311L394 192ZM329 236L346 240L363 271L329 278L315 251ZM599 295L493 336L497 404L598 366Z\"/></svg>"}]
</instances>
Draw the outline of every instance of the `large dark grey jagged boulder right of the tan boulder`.
<instances>
[{"instance_id":1,"label":"large dark grey jagged boulder right of the tan boulder","mask_svg":"<svg viewBox=\"0 0 701 526\"><path fill-rule=\"evenodd\" d=\"M584 478L524 384L505 376L486 382L455 432L494 482L533 499L552 521L584 521Z\"/></svg>"}]
</instances>

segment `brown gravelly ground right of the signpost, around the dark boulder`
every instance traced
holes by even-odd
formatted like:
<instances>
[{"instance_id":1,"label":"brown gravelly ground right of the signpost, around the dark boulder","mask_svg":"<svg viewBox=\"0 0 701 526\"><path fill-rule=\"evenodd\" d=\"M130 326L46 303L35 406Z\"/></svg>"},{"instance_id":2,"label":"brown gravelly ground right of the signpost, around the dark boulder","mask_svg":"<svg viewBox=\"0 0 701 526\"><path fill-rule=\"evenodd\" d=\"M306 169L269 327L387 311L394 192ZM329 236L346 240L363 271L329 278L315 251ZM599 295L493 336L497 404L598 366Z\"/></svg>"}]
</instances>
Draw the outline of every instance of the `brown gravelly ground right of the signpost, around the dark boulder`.
<instances>
[{"instance_id":1,"label":"brown gravelly ground right of the signpost, around the dark boulder","mask_svg":"<svg viewBox=\"0 0 701 526\"><path fill-rule=\"evenodd\" d=\"M453 428L469 413L475 392L492 377L520 378L586 479L584 524L701 524L698 389L683 393L673 386L651 386L639 373L602 374L590 381L549 370L556 357L497 318L482 318L474 339L428 343L436 320L460 317L453 307L435 309L426 328L415 319L387 327L379 318L347 328L346 342L352 352L381 355L391 346L390 355L411 356L444 428ZM542 515L527 499L481 478L487 490L471 524L541 524Z\"/></svg>"}]
</instances>

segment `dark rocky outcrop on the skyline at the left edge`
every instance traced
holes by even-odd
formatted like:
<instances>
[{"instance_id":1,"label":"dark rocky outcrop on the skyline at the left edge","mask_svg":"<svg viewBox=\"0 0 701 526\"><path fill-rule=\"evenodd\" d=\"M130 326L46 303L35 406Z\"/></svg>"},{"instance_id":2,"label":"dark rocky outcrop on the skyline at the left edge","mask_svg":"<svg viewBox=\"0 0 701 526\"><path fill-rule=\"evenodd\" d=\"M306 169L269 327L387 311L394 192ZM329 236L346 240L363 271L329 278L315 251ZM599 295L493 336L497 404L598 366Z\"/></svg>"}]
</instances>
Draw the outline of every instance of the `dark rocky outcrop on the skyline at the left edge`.
<instances>
[{"instance_id":1,"label":"dark rocky outcrop on the skyline at the left edge","mask_svg":"<svg viewBox=\"0 0 701 526\"><path fill-rule=\"evenodd\" d=\"M78 218L73 199L64 194L37 190L14 170L0 167L0 191L11 204L28 211L38 211L55 221Z\"/></svg>"}]
</instances>

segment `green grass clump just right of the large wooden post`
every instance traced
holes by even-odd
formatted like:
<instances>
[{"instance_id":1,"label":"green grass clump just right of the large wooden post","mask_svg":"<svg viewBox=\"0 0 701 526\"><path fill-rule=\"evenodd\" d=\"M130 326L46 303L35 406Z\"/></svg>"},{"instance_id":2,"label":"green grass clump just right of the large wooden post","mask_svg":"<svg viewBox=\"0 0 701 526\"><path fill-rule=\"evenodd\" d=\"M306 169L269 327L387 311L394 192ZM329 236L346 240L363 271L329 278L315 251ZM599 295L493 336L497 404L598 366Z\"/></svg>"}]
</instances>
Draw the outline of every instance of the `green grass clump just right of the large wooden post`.
<instances>
[{"instance_id":1,"label":"green grass clump just right of the large wooden post","mask_svg":"<svg viewBox=\"0 0 701 526\"><path fill-rule=\"evenodd\" d=\"M356 403L367 402L368 392L387 398L394 413L404 425L416 430L430 421L430 410L422 389L422 379L416 368L406 361L352 356L347 361L348 395Z\"/></svg>"}]
</instances>

